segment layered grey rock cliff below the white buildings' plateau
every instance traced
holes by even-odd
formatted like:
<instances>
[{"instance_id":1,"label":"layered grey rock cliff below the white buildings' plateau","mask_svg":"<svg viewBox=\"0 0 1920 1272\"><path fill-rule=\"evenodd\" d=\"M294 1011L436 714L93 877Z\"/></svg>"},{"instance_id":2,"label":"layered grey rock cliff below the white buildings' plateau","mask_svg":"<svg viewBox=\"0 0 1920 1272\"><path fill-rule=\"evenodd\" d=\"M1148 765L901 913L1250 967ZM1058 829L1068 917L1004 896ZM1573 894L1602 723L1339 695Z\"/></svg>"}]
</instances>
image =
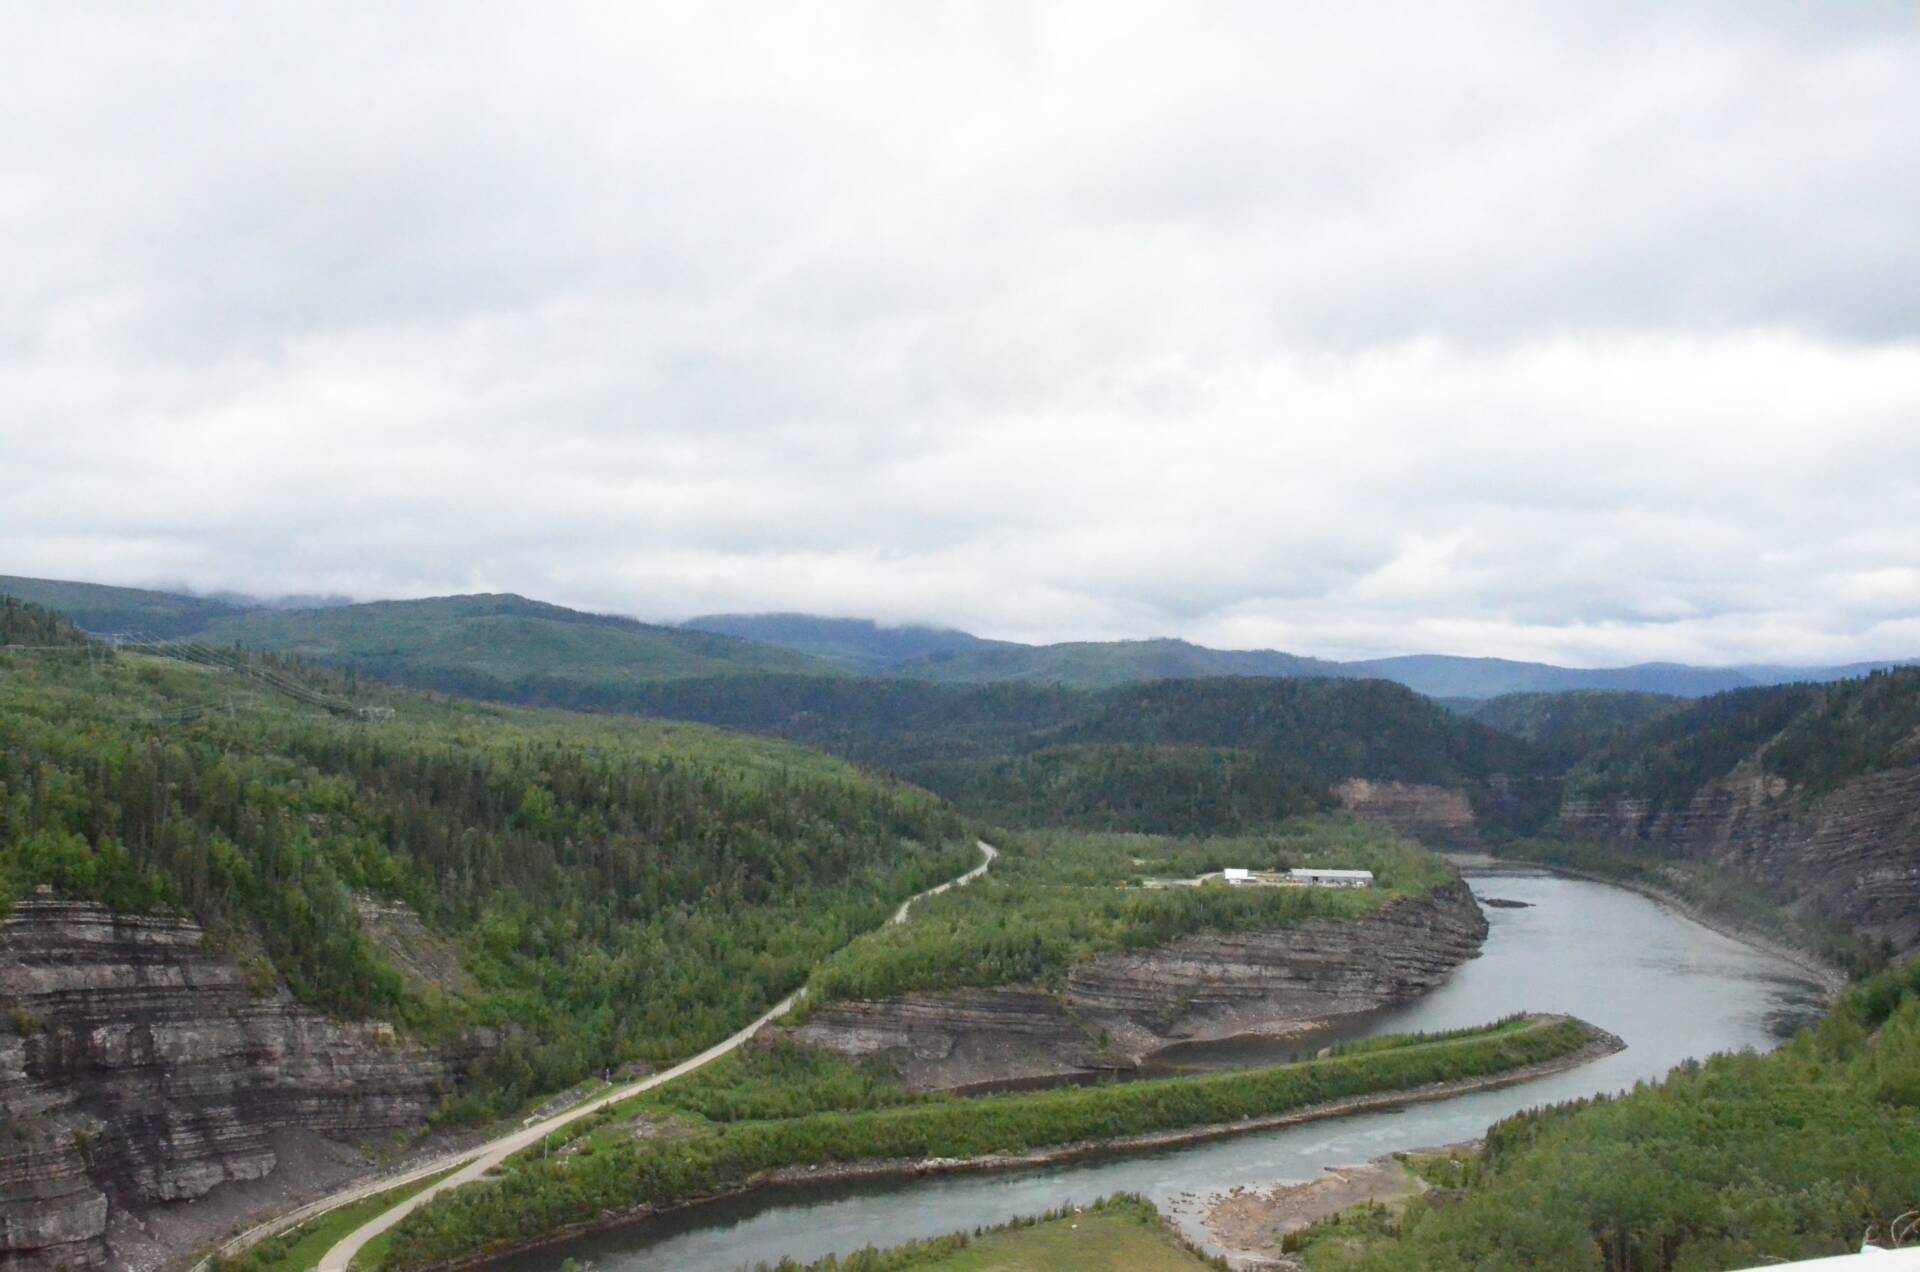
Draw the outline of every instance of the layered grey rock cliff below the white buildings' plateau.
<instances>
[{"instance_id":1,"label":"layered grey rock cliff below the white buildings' plateau","mask_svg":"<svg viewBox=\"0 0 1920 1272\"><path fill-rule=\"evenodd\" d=\"M887 1055L918 1089L1071 1078L1133 1068L1177 1041L1298 1032L1413 997L1484 938L1486 918L1455 882L1359 920L1106 953L1073 968L1062 997L964 990L833 1003L791 1038L847 1057Z\"/></svg>"}]
</instances>

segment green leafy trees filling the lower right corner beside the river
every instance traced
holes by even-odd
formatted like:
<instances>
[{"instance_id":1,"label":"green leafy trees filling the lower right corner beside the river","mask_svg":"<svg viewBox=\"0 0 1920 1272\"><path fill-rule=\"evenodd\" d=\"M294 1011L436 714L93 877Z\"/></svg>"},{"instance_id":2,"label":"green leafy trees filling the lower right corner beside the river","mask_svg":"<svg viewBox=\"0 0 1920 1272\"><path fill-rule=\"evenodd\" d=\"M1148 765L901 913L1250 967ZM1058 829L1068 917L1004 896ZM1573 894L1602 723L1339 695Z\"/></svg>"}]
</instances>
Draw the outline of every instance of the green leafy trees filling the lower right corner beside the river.
<instances>
[{"instance_id":1,"label":"green leafy trees filling the lower right corner beside the river","mask_svg":"<svg viewBox=\"0 0 1920 1272\"><path fill-rule=\"evenodd\" d=\"M1885 1241L1920 1199L1920 961L1772 1055L1507 1118L1450 1184L1309 1234L1308 1266L1711 1270Z\"/></svg>"}]
</instances>

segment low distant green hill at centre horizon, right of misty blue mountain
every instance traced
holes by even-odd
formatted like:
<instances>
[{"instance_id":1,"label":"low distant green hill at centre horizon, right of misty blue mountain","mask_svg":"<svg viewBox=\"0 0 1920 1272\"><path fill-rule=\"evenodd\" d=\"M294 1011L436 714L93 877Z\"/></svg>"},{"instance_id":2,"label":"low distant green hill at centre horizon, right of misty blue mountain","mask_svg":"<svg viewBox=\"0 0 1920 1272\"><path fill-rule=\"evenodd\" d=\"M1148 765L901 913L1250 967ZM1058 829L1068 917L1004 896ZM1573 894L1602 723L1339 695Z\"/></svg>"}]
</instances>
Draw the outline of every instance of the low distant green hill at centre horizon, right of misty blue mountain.
<instances>
[{"instance_id":1,"label":"low distant green hill at centre horizon, right of misty blue mountain","mask_svg":"<svg viewBox=\"0 0 1920 1272\"><path fill-rule=\"evenodd\" d=\"M1273 649L1206 649L1185 640L1108 640L1058 646L1006 646L935 653L900 663L893 674L941 684L1025 680L1110 688L1190 676L1338 676L1338 663Z\"/></svg>"}]
</instances>

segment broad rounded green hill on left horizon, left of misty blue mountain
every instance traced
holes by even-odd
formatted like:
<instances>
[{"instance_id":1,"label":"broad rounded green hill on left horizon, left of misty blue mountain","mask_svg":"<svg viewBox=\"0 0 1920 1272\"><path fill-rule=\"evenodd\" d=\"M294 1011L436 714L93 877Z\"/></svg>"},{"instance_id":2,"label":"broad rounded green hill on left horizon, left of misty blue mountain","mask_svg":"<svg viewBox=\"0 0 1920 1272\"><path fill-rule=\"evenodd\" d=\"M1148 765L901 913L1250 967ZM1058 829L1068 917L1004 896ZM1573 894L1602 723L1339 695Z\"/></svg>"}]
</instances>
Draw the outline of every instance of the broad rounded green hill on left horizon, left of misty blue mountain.
<instances>
[{"instance_id":1,"label":"broad rounded green hill on left horizon, left of misty blue mountain","mask_svg":"<svg viewBox=\"0 0 1920 1272\"><path fill-rule=\"evenodd\" d=\"M839 674L774 646L589 615L520 596L442 596L330 609L255 609L200 632L303 661L478 697L522 697L528 682L641 684L737 673Z\"/></svg>"}]
</instances>

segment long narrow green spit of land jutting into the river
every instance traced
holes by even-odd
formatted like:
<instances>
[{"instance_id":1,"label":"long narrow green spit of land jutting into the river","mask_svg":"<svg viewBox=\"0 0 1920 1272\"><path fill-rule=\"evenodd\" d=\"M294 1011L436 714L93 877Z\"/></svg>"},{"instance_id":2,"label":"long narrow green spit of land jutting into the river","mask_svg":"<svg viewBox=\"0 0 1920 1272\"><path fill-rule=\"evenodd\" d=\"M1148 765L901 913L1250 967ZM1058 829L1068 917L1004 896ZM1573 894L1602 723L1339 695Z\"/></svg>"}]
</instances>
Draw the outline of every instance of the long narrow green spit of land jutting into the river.
<instances>
[{"instance_id":1,"label":"long narrow green spit of land jutting into the river","mask_svg":"<svg viewBox=\"0 0 1920 1272\"><path fill-rule=\"evenodd\" d=\"M1269 1118L1348 1097L1482 1078L1578 1053L1601 1036L1578 1020L1515 1018L1484 1030L1233 1074L981 1099L924 1099L877 1111L710 1122L637 1137L607 1122L563 1151L515 1161L505 1178L438 1197L394 1235L388 1270L503 1251L612 1214L668 1209L749 1187L793 1166L977 1159Z\"/></svg>"}]
</instances>

